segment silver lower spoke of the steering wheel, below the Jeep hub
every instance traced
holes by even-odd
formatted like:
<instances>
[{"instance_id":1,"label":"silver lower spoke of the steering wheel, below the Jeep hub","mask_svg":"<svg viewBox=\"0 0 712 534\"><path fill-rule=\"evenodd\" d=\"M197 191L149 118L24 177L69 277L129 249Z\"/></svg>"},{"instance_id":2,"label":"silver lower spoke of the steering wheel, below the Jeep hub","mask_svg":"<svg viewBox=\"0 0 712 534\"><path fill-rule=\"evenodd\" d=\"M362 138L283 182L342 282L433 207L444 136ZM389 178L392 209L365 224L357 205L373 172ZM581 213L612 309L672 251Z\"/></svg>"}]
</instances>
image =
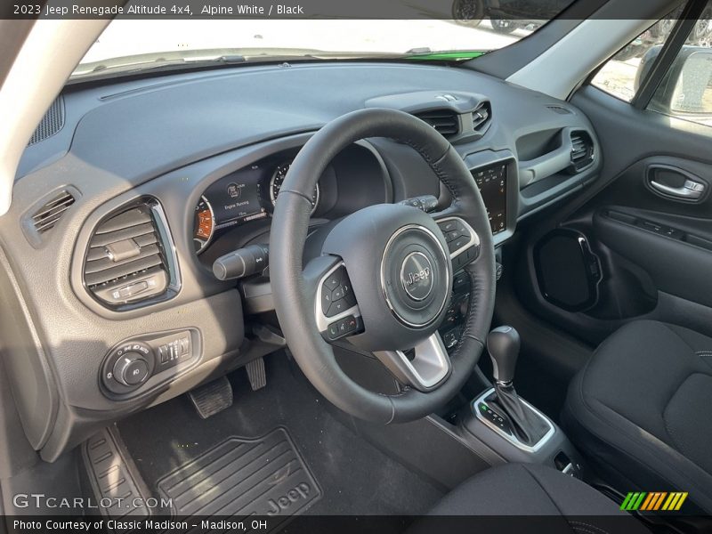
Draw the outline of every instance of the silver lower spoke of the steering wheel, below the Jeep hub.
<instances>
[{"instance_id":1,"label":"silver lower spoke of the steering wheel, below the Jeep hub","mask_svg":"<svg viewBox=\"0 0 712 534\"><path fill-rule=\"evenodd\" d=\"M448 351L438 332L409 351L378 351L374 355L402 384L420 392L433 391L451 371Z\"/></svg>"}]
</instances>

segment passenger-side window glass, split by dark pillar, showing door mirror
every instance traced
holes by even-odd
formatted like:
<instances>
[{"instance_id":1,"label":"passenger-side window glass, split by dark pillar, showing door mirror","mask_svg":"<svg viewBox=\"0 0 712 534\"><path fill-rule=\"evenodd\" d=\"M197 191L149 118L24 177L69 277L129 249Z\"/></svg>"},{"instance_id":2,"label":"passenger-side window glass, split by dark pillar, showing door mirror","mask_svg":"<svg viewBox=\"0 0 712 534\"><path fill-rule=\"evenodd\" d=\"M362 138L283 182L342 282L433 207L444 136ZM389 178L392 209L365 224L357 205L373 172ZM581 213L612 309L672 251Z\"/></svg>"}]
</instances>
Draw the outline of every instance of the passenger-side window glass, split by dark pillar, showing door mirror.
<instances>
[{"instance_id":1,"label":"passenger-side window glass, split by dark pillar, showing door mirror","mask_svg":"<svg viewBox=\"0 0 712 534\"><path fill-rule=\"evenodd\" d=\"M634 101L643 81L651 74L651 67L659 60L667 38L680 23L677 19L682 9L670 13L627 44L603 65L591 83L621 100ZM712 126L712 0L700 19L690 21L689 25L684 42L680 36L679 43L672 43L676 56L667 71L659 79L651 80L657 85L654 93L639 107Z\"/></svg>"}]
</instances>

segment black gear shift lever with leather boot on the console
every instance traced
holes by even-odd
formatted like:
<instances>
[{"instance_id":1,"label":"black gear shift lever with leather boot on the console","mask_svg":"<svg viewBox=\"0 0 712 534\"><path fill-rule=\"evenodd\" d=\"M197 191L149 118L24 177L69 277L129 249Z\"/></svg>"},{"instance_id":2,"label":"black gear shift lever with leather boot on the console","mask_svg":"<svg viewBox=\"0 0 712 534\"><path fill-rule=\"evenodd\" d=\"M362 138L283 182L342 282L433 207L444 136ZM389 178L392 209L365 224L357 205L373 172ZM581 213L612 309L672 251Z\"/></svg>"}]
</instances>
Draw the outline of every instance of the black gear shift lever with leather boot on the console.
<instances>
[{"instance_id":1,"label":"black gear shift lever with leather boot on the console","mask_svg":"<svg viewBox=\"0 0 712 534\"><path fill-rule=\"evenodd\" d=\"M525 445L536 445L548 426L526 407L514 390L514 368L520 348L519 333L512 327L495 328L487 336L487 350L494 368L496 399L488 400L493 408L509 419L512 432Z\"/></svg>"}]
</instances>

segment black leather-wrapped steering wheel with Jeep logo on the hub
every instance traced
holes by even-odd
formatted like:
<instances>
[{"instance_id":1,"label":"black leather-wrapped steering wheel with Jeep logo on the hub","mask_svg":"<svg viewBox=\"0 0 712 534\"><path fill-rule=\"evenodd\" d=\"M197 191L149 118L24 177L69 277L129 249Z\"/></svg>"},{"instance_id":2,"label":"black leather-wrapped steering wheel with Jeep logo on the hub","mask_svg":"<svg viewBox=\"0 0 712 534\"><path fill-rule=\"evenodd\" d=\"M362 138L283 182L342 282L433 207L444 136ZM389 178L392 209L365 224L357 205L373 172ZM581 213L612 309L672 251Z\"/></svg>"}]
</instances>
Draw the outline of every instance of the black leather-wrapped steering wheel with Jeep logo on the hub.
<instances>
[{"instance_id":1,"label":"black leather-wrapped steering wheel with Jeep logo on the hub","mask_svg":"<svg viewBox=\"0 0 712 534\"><path fill-rule=\"evenodd\" d=\"M427 214L380 204L331 228L321 255L303 265L312 191L331 160L352 142L387 137L408 144L449 190L452 204ZM354 417L383 423L425 417L454 397L484 348L495 298L492 233L480 191L452 145L417 117L362 109L336 118L306 142L279 191L271 223L274 306L303 373L328 401ZM472 282L465 328L448 355L438 327L453 272ZM356 384L332 344L373 352L402 384L394 395Z\"/></svg>"}]
</instances>

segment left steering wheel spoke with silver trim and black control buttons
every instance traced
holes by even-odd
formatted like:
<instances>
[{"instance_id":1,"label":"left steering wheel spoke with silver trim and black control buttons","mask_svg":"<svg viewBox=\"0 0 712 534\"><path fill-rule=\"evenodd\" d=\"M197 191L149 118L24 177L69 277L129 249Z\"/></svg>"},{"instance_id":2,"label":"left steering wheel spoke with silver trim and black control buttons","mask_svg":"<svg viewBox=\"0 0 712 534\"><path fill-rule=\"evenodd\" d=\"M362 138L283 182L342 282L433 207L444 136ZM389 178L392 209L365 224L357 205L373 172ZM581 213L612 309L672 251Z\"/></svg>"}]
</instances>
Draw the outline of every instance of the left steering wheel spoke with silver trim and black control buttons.
<instances>
[{"instance_id":1,"label":"left steering wheel spoke with silver trim and black control buttons","mask_svg":"<svg viewBox=\"0 0 712 534\"><path fill-rule=\"evenodd\" d=\"M328 343L363 332L359 304L341 258L325 255L312 260L304 279L312 282L314 319Z\"/></svg>"}]
</instances>

